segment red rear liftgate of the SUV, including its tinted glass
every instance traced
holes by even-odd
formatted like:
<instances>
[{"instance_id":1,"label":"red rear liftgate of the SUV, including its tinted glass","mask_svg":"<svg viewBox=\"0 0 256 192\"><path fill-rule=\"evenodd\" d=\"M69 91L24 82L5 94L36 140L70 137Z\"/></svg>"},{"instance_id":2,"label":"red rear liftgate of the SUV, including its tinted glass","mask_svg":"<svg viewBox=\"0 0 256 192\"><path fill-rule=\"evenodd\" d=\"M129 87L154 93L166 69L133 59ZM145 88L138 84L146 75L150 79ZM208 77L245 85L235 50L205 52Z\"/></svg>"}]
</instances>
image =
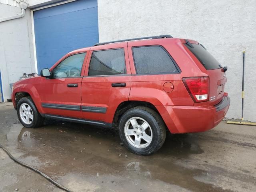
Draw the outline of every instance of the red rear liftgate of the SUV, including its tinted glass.
<instances>
[{"instance_id":1,"label":"red rear liftgate of the SUV, including its tinted glass","mask_svg":"<svg viewBox=\"0 0 256 192\"><path fill-rule=\"evenodd\" d=\"M197 64L204 66L209 76L209 102L212 105L220 102L224 95L224 86L227 81L222 65L202 46L186 41L184 45L196 56Z\"/></svg>"}]
</instances>

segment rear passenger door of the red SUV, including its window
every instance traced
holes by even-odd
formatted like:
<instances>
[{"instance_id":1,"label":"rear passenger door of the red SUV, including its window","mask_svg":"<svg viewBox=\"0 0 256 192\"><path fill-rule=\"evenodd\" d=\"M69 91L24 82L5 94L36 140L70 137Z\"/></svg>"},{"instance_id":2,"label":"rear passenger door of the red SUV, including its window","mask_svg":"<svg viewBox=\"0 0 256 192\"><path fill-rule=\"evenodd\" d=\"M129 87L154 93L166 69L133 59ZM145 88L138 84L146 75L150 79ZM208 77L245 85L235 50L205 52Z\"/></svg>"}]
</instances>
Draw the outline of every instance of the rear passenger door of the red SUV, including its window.
<instances>
[{"instance_id":1,"label":"rear passenger door of the red SUV, including its window","mask_svg":"<svg viewBox=\"0 0 256 192\"><path fill-rule=\"evenodd\" d=\"M130 88L127 42L92 47L82 79L83 117L112 123L118 105L128 101Z\"/></svg>"}]
</instances>

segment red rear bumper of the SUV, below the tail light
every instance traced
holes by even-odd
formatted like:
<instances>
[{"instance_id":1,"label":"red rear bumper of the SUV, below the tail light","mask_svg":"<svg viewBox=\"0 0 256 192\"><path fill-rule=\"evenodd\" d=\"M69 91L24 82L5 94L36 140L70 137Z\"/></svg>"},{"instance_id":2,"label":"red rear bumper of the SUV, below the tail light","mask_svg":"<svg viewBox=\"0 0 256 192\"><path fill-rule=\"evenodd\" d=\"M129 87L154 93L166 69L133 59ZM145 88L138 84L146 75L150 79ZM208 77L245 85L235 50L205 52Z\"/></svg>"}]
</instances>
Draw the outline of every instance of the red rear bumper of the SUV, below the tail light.
<instances>
[{"instance_id":1,"label":"red rear bumper of the SUV, below the tail light","mask_svg":"<svg viewBox=\"0 0 256 192\"><path fill-rule=\"evenodd\" d=\"M215 106L156 106L171 133L204 132L218 125L228 112L230 98Z\"/></svg>"}]
</instances>

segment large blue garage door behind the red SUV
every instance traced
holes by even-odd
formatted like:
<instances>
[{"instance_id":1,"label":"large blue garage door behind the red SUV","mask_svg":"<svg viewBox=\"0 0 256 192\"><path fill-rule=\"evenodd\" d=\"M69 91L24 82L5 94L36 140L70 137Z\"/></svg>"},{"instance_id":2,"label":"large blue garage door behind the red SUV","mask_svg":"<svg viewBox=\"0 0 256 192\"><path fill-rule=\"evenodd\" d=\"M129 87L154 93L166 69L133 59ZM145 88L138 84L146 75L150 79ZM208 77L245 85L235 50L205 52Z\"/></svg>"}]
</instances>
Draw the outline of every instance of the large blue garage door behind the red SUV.
<instances>
[{"instance_id":1,"label":"large blue garage door behind the red SUV","mask_svg":"<svg viewBox=\"0 0 256 192\"><path fill-rule=\"evenodd\" d=\"M38 73L66 53L99 40L97 0L74 2L34 11Z\"/></svg>"}]
</instances>

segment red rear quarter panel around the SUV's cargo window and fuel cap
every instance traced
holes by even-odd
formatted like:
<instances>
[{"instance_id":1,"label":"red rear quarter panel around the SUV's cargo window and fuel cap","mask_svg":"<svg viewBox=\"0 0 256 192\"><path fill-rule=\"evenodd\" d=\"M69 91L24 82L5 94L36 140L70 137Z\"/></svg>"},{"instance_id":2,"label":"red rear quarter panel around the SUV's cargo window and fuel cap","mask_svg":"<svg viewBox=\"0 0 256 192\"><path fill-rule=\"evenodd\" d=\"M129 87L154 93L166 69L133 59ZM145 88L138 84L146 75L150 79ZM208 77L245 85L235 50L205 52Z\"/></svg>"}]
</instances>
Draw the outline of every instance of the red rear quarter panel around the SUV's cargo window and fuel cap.
<instances>
[{"instance_id":1,"label":"red rear quarter panel around the SUV's cargo window and fuel cap","mask_svg":"<svg viewBox=\"0 0 256 192\"><path fill-rule=\"evenodd\" d=\"M164 47L178 64L180 74L136 74L132 47L160 45ZM193 106L194 102L186 90L182 78L191 76L207 76L201 72L194 60L184 49L180 39L157 39L128 42L128 53L132 72L132 88L129 100L140 100L152 103L154 106ZM157 68L157 64L156 64ZM163 85L171 82L174 89L170 93L163 90Z\"/></svg>"}]
</instances>

